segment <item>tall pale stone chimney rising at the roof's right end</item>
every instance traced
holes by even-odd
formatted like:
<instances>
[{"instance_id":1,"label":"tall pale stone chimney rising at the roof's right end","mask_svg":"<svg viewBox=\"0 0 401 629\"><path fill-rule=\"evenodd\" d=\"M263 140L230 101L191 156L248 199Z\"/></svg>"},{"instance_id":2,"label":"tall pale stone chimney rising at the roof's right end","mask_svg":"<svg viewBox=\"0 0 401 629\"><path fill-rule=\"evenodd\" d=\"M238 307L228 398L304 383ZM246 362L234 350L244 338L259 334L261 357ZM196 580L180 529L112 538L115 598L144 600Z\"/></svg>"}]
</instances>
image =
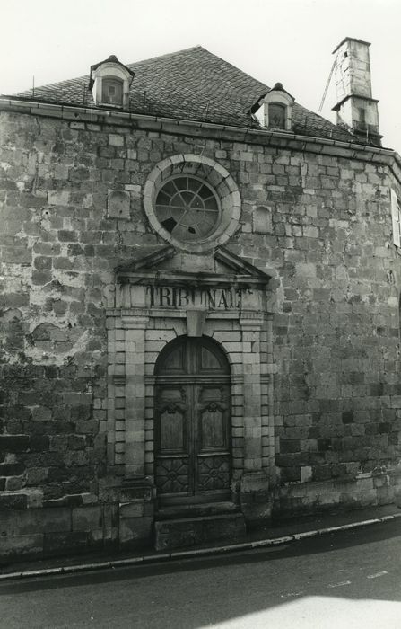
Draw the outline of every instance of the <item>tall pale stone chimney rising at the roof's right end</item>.
<instances>
[{"instance_id":1,"label":"tall pale stone chimney rising at the roof's right end","mask_svg":"<svg viewBox=\"0 0 401 629\"><path fill-rule=\"evenodd\" d=\"M381 146L378 102L371 97L368 41L346 37L333 51L336 54L336 99L333 110L337 124L355 136Z\"/></svg>"}]
</instances>

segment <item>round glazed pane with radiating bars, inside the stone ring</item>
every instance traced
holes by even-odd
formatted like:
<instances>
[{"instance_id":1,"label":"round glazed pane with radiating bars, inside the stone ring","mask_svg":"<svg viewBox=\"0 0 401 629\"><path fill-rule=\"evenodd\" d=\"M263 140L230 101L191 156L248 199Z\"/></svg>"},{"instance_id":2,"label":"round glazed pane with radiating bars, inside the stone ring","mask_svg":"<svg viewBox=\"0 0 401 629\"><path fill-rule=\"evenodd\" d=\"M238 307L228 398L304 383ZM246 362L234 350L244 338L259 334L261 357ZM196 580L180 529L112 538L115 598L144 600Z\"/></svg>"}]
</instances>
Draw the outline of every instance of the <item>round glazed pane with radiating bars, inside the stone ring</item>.
<instances>
[{"instance_id":1,"label":"round glazed pane with radiating bars, inside the stone ring","mask_svg":"<svg viewBox=\"0 0 401 629\"><path fill-rule=\"evenodd\" d=\"M161 226L180 241L198 241L214 233L220 203L214 190L196 177L171 177L156 198Z\"/></svg>"}]
</instances>

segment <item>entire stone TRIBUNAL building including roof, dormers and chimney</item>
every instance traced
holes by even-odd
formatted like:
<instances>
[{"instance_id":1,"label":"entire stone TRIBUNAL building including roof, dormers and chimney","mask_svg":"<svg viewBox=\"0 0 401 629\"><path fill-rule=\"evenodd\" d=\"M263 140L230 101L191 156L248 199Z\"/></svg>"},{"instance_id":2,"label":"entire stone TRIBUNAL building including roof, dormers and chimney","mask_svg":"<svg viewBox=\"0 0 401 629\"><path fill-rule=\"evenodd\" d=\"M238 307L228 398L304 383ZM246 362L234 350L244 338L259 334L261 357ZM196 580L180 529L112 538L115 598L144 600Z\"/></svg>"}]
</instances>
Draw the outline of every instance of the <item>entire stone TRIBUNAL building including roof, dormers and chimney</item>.
<instances>
[{"instance_id":1,"label":"entire stone TRIBUNAL building including roof, dormers and chimney","mask_svg":"<svg viewBox=\"0 0 401 629\"><path fill-rule=\"evenodd\" d=\"M401 162L371 93L332 125L199 48L82 81L0 102L0 554L394 501Z\"/></svg>"}]
</instances>

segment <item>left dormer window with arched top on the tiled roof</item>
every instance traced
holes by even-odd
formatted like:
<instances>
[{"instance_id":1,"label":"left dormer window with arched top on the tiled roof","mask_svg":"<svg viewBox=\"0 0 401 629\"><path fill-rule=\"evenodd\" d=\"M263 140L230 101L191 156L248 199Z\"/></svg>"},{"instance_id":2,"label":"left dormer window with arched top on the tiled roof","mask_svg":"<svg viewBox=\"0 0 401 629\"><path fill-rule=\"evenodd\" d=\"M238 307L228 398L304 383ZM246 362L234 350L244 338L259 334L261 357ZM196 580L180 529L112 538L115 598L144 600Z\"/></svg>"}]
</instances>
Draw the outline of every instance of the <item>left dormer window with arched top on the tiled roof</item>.
<instances>
[{"instance_id":1,"label":"left dormer window with arched top on the tiled roof","mask_svg":"<svg viewBox=\"0 0 401 629\"><path fill-rule=\"evenodd\" d=\"M134 75L114 55L91 66L89 89L92 89L95 105L128 109Z\"/></svg>"}]
</instances>

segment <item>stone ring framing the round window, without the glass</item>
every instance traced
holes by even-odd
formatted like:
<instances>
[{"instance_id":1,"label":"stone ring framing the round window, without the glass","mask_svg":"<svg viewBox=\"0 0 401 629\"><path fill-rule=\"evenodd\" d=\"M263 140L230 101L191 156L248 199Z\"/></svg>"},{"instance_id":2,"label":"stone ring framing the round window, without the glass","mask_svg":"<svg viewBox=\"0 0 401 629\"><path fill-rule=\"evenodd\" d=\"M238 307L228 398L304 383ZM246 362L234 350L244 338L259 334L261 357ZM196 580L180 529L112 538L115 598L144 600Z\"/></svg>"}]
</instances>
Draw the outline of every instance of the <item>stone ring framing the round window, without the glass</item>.
<instances>
[{"instance_id":1,"label":"stone ring framing the round window, without the glass","mask_svg":"<svg viewBox=\"0 0 401 629\"><path fill-rule=\"evenodd\" d=\"M220 201L220 218L213 233L199 240L179 240L165 229L156 216L156 198L167 180L177 175L196 177L208 184ZM154 231L163 240L185 252L201 253L226 243L240 222L240 191L221 164L202 155L171 155L159 162L144 184L144 211Z\"/></svg>"}]
</instances>

